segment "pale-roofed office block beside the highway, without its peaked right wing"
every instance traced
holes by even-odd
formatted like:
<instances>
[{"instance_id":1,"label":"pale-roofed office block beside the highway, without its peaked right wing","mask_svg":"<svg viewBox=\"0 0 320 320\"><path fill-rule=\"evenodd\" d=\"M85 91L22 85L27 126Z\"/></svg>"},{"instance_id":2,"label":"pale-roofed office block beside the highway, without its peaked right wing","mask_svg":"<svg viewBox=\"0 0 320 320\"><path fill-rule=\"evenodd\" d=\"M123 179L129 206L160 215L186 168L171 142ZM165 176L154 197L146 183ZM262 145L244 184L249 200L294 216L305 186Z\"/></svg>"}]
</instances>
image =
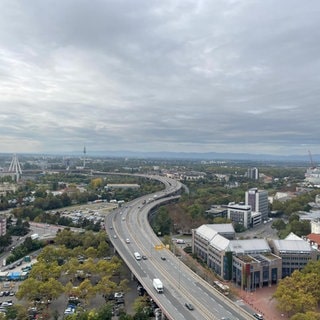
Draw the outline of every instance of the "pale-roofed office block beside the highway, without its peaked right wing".
<instances>
[{"instance_id":1,"label":"pale-roofed office block beside the highway, without its peaked right wing","mask_svg":"<svg viewBox=\"0 0 320 320\"><path fill-rule=\"evenodd\" d=\"M193 230L192 250L217 276L253 290L281 279L281 258L265 239L236 240L232 224L202 225ZM228 236L229 238L226 238Z\"/></svg>"}]
</instances>

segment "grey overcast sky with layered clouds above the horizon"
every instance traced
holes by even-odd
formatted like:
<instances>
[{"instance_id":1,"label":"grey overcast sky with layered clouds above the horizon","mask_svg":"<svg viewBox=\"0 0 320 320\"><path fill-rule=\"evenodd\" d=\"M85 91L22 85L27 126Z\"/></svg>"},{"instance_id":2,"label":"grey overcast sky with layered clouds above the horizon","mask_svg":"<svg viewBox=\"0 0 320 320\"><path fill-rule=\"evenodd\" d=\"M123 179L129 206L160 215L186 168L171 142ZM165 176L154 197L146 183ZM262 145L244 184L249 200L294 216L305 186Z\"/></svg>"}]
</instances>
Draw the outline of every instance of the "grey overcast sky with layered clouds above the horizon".
<instances>
[{"instance_id":1,"label":"grey overcast sky with layered clouds above the horizon","mask_svg":"<svg viewBox=\"0 0 320 320\"><path fill-rule=\"evenodd\" d=\"M0 152L320 153L319 0L2 0Z\"/></svg>"}]
</instances>

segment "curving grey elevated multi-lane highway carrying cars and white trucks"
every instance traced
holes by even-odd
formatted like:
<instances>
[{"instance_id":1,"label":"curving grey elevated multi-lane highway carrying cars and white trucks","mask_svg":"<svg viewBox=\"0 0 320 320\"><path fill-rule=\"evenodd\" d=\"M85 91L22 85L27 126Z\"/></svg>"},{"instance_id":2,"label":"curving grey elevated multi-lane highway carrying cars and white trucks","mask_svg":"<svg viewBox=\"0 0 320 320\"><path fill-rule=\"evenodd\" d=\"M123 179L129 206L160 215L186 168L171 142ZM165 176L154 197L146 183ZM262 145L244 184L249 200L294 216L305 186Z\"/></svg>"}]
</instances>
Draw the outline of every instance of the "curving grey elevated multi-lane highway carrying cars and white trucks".
<instances>
[{"instance_id":1,"label":"curving grey elevated multi-lane highway carrying cars and white trucks","mask_svg":"<svg viewBox=\"0 0 320 320\"><path fill-rule=\"evenodd\" d=\"M106 217L107 233L117 252L168 319L253 318L164 248L149 225L148 213L153 207L174 200L182 184L164 177L153 178L163 182L163 191L157 192L156 196L148 195L135 199ZM153 201L148 203L150 199ZM134 252L139 252L146 259L136 260ZM162 281L163 294L157 293L153 288L154 278ZM194 310L186 308L185 303L191 303Z\"/></svg>"}]
</instances>

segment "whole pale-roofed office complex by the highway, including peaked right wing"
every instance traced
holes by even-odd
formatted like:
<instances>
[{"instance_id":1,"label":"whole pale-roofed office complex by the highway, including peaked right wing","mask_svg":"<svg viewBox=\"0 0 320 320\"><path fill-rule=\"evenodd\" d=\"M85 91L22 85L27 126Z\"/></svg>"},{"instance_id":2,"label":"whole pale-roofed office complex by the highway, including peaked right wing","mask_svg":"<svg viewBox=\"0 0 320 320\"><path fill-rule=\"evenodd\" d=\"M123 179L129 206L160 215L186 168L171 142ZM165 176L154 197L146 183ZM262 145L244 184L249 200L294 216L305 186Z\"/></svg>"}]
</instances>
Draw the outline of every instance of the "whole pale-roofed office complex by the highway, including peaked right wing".
<instances>
[{"instance_id":1,"label":"whole pale-roofed office complex by the highway, including peaked right wing","mask_svg":"<svg viewBox=\"0 0 320 320\"><path fill-rule=\"evenodd\" d=\"M217 276L235 282L244 290L276 284L320 257L319 250L294 234L269 243L265 239L237 240L231 232L232 225L226 226L202 225L194 229L192 251Z\"/></svg>"}]
</instances>

